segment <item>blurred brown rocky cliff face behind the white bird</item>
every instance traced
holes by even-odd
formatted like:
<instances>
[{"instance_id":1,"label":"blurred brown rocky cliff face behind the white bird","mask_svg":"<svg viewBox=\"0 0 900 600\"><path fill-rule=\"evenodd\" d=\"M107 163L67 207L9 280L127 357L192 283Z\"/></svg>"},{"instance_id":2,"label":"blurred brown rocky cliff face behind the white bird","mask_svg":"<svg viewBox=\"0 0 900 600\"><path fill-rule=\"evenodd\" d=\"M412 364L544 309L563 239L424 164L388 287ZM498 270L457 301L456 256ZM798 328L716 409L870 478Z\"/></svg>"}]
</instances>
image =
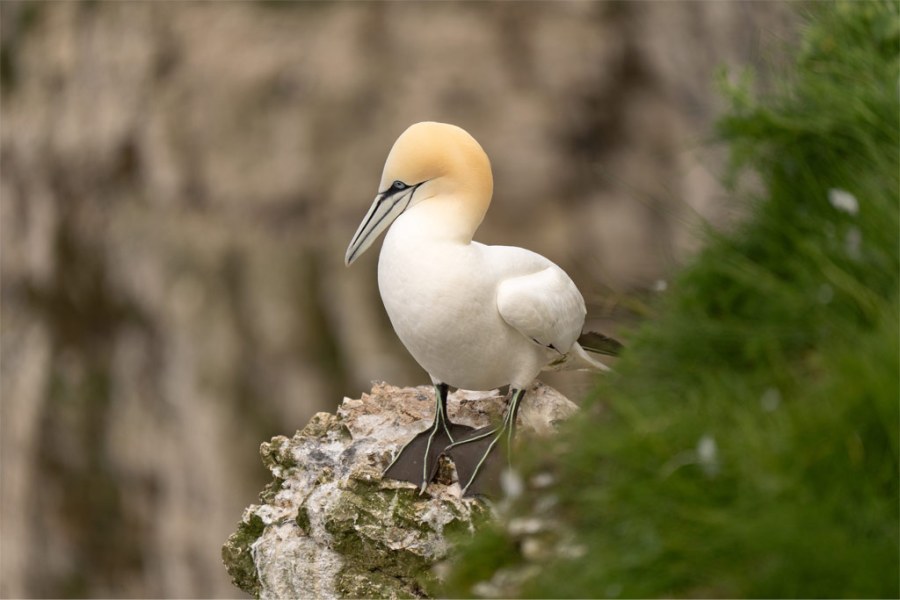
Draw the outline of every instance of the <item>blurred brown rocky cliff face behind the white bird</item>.
<instances>
[{"instance_id":1,"label":"blurred brown rocky cliff face behind the white bird","mask_svg":"<svg viewBox=\"0 0 900 600\"><path fill-rule=\"evenodd\" d=\"M239 593L219 551L260 442L373 379L427 381L377 247L343 266L406 126L475 135L496 190L478 238L553 259L612 332L701 218L728 219L713 75L764 72L791 18L3 2L0 33L0 594L201 597Z\"/></svg>"}]
</instances>

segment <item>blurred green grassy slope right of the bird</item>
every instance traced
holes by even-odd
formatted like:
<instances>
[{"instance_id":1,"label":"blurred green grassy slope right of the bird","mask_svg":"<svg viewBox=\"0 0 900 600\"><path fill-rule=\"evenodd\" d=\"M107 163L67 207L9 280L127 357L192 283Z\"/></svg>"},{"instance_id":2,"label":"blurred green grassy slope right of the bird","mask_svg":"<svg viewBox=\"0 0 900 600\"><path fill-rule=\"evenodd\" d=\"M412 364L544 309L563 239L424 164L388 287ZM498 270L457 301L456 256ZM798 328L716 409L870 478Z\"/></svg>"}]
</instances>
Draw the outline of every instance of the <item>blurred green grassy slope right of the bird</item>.
<instances>
[{"instance_id":1,"label":"blurred green grassy slope right of the bird","mask_svg":"<svg viewBox=\"0 0 900 600\"><path fill-rule=\"evenodd\" d=\"M897 3L820 3L780 91L728 90L765 197L531 458L556 483L462 549L451 594L900 596L898 66Z\"/></svg>"}]
</instances>

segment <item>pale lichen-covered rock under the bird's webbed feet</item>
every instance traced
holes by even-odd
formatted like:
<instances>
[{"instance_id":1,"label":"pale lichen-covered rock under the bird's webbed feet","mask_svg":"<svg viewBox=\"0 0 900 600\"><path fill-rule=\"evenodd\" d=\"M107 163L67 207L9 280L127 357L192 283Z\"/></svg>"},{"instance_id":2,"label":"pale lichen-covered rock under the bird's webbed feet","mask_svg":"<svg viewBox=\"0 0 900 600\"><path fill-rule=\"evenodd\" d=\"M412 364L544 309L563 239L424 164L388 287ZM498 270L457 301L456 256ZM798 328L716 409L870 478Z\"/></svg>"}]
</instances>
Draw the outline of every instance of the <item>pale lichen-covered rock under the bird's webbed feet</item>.
<instances>
[{"instance_id":1,"label":"pale lichen-covered rock under the bird's webbed feet","mask_svg":"<svg viewBox=\"0 0 900 600\"><path fill-rule=\"evenodd\" d=\"M472 427L499 419L498 392L459 390L450 417ZM394 453L433 417L430 387L383 383L337 414L318 413L292 438L262 444L273 481L248 507L222 548L234 584L261 598L428 597L432 566L446 558L448 534L474 531L488 502L462 498L449 463L420 495L382 479ZM576 410L536 383L521 408L523 435L546 435Z\"/></svg>"}]
</instances>

